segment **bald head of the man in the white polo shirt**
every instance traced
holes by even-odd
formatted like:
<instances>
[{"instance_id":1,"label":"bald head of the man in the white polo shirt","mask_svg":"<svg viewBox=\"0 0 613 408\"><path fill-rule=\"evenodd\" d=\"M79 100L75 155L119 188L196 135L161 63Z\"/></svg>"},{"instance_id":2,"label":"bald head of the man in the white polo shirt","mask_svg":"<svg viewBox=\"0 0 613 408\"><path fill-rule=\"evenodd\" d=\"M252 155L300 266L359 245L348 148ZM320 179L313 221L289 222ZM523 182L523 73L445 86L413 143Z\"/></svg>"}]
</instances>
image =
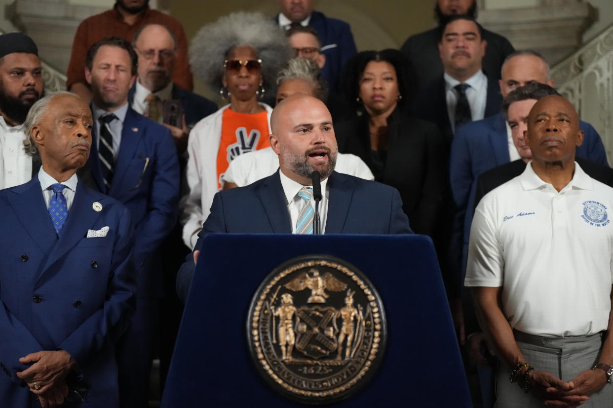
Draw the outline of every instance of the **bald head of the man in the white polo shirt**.
<instances>
[{"instance_id":1,"label":"bald head of the man in the white polo shirt","mask_svg":"<svg viewBox=\"0 0 613 408\"><path fill-rule=\"evenodd\" d=\"M576 109L558 95L539 99L528 114L524 139L534 161L563 165L574 161L575 149L583 143Z\"/></svg>"}]
</instances>

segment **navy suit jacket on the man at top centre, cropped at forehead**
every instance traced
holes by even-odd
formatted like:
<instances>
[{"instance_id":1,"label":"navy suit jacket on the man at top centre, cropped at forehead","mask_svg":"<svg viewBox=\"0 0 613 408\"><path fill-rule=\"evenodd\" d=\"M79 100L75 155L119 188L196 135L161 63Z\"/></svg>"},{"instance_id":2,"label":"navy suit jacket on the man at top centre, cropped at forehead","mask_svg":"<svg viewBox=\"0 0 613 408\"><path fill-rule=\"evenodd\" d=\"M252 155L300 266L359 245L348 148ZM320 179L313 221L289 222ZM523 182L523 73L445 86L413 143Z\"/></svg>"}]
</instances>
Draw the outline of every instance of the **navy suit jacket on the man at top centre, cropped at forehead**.
<instances>
[{"instance_id":1,"label":"navy suit jacket on the man at top centre, cropped at forehead","mask_svg":"<svg viewBox=\"0 0 613 408\"><path fill-rule=\"evenodd\" d=\"M278 20L276 21L278 24ZM320 12L311 13L308 25L317 31L321 39L322 54L326 56L326 65L321 69L321 75L327 81L330 91L338 93L345 62L357 54L351 27L345 21L326 17Z\"/></svg>"}]
</instances>

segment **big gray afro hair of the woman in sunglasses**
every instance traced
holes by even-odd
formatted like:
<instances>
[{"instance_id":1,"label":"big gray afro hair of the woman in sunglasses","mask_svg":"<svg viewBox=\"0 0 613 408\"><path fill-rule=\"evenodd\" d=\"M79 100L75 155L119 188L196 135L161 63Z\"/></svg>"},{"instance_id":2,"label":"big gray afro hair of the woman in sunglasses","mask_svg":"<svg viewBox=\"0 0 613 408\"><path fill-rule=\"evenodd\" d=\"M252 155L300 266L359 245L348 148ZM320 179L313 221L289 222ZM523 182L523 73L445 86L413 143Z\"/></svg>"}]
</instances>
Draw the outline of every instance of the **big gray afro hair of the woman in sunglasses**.
<instances>
[{"instance_id":1,"label":"big gray afro hair of the woman in sunglasses","mask_svg":"<svg viewBox=\"0 0 613 408\"><path fill-rule=\"evenodd\" d=\"M262 60L266 93L272 92L276 73L290 55L283 30L262 13L235 12L200 28L189 47L189 63L196 75L213 89L223 85L224 60L236 46L246 45Z\"/></svg>"}]
</instances>

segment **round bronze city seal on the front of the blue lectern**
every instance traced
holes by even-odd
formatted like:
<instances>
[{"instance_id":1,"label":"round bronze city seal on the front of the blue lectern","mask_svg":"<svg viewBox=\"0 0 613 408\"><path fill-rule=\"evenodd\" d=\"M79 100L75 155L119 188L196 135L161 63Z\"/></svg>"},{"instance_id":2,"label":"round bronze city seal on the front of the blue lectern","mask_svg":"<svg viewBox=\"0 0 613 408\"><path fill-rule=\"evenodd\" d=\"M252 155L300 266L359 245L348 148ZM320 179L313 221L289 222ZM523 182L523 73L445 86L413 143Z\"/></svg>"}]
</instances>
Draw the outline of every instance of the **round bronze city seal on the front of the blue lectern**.
<instances>
[{"instance_id":1,"label":"round bronze city seal on the front of the blue lectern","mask_svg":"<svg viewBox=\"0 0 613 408\"><path fill-rule=\"evenodd\" d=\"M249 306L247 338L257 369L276 391L307 404L348 398L366 384L386 336L373 284L331 256L285 262Z\"/></svg>"}]
</instances>

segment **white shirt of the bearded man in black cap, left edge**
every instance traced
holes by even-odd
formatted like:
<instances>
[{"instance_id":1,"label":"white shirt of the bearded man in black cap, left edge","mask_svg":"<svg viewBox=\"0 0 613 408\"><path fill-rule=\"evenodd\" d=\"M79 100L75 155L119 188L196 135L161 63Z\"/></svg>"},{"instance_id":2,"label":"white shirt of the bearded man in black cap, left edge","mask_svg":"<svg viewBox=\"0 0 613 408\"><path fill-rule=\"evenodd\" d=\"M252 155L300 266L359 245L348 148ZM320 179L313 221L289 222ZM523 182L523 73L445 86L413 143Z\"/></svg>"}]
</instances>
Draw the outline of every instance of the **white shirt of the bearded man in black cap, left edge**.
<instances>
[{"instance_id":1,"label":"white shirt of the bearded man in black cap, left edge","mask_svg":"<svg viewBox=\"0 0 613 408\"><path fill-rule=\"evenodd\" d=\"M23 150L23 125L9 126L0 116L0 190L32 178L32 157Z\"/></svg>"}]
</instances>

